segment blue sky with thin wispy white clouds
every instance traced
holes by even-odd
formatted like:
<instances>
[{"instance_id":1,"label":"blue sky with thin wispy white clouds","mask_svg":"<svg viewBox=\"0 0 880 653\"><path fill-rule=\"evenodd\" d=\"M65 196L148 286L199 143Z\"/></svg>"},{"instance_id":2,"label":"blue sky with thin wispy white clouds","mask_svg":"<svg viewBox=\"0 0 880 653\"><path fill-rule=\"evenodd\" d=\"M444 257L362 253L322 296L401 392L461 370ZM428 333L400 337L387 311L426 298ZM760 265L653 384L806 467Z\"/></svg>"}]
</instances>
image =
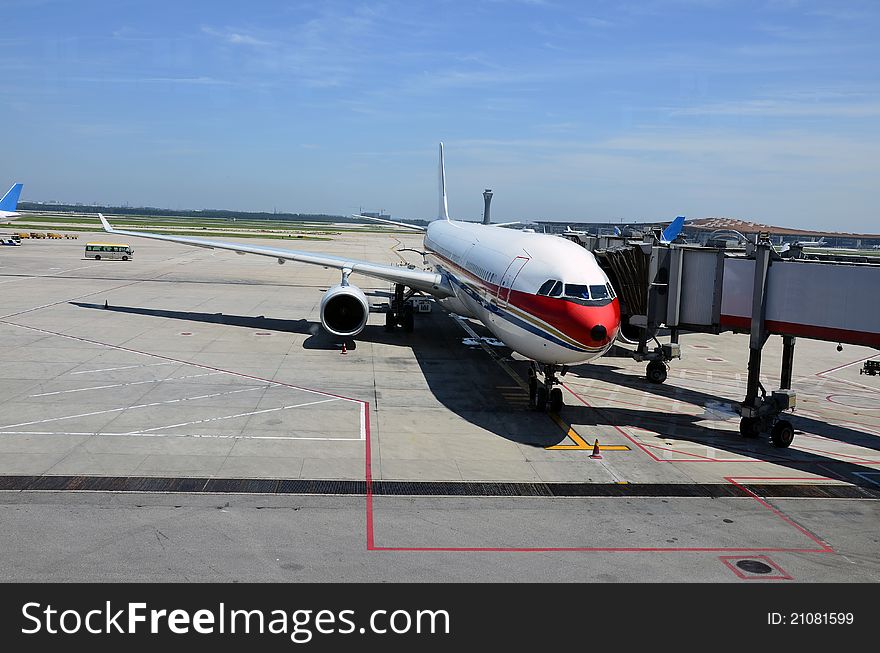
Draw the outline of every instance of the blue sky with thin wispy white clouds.
<instances>
[{"instance_id":1,"label":"blue sky with thin wispy white clouds","mask_svg":"<svg viewBox=\"0 0 880 653\"><path fill-rule=\"evenodd\" d=\"M880 2L0 0L23 200L880 232Z\"/></svg>"}]
</instances>

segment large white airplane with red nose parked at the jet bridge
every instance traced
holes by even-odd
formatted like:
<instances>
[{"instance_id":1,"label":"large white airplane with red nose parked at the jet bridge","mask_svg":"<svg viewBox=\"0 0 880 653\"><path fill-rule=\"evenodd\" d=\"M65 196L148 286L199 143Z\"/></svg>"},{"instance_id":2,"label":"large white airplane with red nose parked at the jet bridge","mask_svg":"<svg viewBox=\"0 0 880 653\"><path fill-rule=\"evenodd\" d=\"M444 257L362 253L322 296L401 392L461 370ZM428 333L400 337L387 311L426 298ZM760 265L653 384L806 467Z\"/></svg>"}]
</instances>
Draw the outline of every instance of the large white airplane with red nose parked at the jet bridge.
<instances>
[{"instance_id":1,"label":"large white airplane with red nose parked at the jet bridge","mask_svg":"<svg viewBox=\"0 0 880 653\"><path fill-rule=\"evenodd\" d=\"M495 338L529 359L531 406L558 413L563 397L556 387L561 384L557 375L564 375L570 365L599 358L617 338L620 304L611 282L592 253L565 238L450 219L443 143L439 182L439 215L427 227L371 218L423 232L423 255L430 266L426 270L262 245L125 231L114 229L102 214L98 217L105 231L121 236L257 254L280 264L298 261L335 268L341 280L321 299L320 320L326 331L340 338L357 336L369 317L364 292L350 280L353 273L395 284L392 307L396 308L386 315L388 329L411 330L412 313L404 309L405 300L416 292L431 295L450 312L479 320Z\"/></svg>"}]
</instances>

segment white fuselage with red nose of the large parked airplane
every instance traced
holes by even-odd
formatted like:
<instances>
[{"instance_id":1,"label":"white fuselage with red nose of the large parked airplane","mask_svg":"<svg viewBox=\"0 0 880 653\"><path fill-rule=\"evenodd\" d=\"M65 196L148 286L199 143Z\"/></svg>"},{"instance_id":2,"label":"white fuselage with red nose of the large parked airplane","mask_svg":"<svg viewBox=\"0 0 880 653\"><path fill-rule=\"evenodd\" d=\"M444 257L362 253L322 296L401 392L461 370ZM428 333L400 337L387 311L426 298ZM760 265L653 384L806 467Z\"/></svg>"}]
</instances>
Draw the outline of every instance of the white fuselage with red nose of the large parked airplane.
<instances>
[{"instance_id":1,"label":"white fuselage with red nose of the large parked airplane","mask_svg":"<svg viewBox=\"0 0 880 653\"><path fill-rule=\"evenodd\" d=\"M480 320L531 360L586 362L617 336L620 309L608 277L590 252L569 240L437 220L428 225L425 250L454 292L441 304Z\"/></svg>"}]
</instances>

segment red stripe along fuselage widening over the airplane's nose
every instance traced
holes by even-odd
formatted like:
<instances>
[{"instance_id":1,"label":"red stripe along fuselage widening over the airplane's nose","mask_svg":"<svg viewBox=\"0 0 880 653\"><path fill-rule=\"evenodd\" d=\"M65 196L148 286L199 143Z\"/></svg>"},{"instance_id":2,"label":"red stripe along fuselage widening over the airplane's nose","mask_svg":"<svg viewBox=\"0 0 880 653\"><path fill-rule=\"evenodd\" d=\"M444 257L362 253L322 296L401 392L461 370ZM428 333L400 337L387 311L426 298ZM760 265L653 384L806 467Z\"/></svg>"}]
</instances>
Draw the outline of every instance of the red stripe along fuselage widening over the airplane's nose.
<instances>
[{"instance_id":1,"label":"red stripe along fuselage widening over the airplane's nose","mask_svg":"<svg viewBox=\"0 0 880 653\"><path fill-rule=\"evenodd\" d=\"M467 277L473 285L479 286L493 298L497 297L500 286L485 281L442 254L430 249L429 251L456 274ZM560 297L533 295L511 289L507 303L546 322L568 338L590 349L607 345L617 337L620 328L620 304L616 298L604 306L591 306L577 304ZM593 340L590 331L597 324L605 327L607 335L600 340Z\"/></svg>"}]
</instances>

